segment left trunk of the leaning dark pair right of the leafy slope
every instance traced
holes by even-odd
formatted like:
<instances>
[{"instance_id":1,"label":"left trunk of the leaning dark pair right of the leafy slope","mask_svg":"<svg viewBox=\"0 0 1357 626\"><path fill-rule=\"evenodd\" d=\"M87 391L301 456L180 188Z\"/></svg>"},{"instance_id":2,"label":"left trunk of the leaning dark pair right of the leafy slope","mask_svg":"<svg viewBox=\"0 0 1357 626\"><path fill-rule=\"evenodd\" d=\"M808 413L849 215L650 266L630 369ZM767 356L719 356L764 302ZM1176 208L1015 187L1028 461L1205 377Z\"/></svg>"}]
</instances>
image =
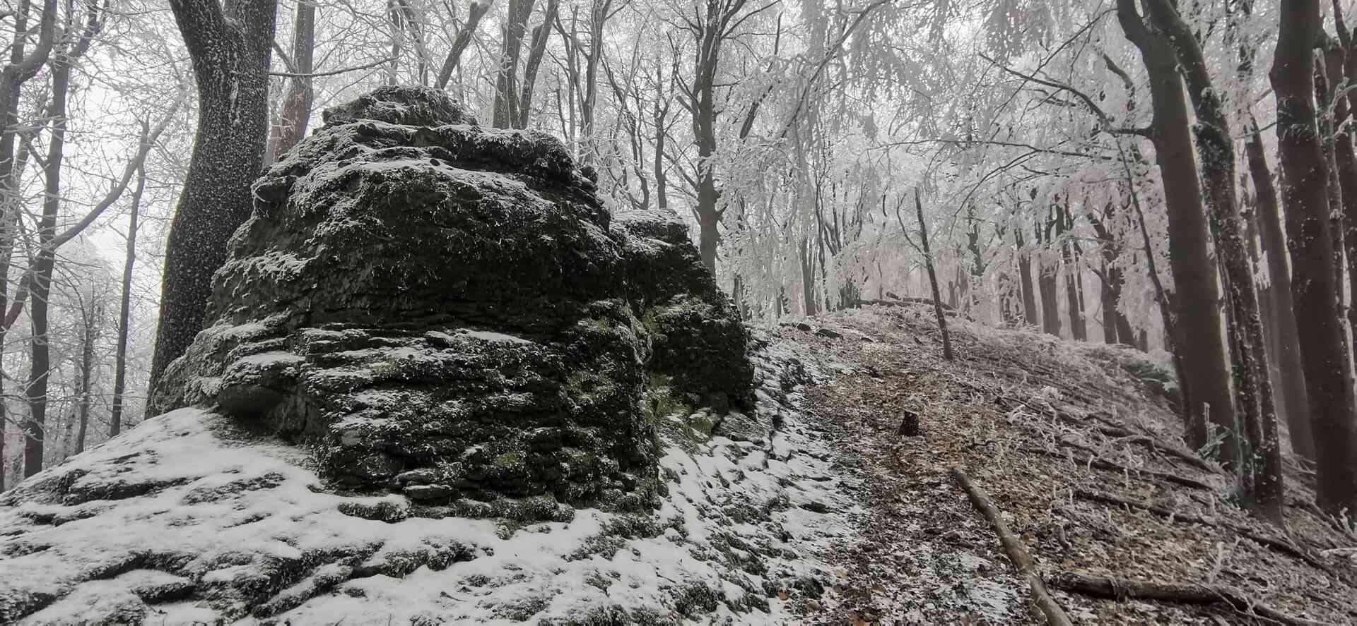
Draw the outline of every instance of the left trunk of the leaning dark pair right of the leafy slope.
<instances>
[{"instance_id":1,"label":"left trunk of the leaning dark pair right of the leafy slope","mask_svg":"<svg viewBox=\"0 0 1357 626\"><path fill-rule=\"evenodd\" d=\"M1168 213L1168 260L1175 289L1174 346L1182 356L1186 397L1191 398L1186 439L1193 447L1201 447L1208 438L1208 419L1231 432L1236 425L1228 355L1221 336L1220 289L1209 255L1210 233L1193 159L1187 103L1177 53L1167 35L1145 26L1134 0L1118 0L1117 15L1149 73L1155 129L1151 140L1155 142L1155 161ZM1235 457L1236 450L1227 439L1220 458Z\"/></svg>"}]
</instances>

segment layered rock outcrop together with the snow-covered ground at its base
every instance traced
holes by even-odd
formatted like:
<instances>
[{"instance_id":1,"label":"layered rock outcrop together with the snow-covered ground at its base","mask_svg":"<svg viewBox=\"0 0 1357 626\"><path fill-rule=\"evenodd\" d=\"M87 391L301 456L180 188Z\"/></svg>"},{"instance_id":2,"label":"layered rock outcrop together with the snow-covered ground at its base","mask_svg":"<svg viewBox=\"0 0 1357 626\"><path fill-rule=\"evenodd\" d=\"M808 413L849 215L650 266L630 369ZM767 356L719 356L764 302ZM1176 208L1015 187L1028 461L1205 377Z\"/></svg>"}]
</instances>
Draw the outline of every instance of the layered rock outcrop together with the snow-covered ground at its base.
<instances>
[{"instance_id":1,"label":"layered rock outcrop together with the snow-covered ground at its base","mask_svg":"<svg viewBox=\"0 0 1357 626\"><path fill-rule=\"evenodd\" d=\"M776 621L822 591L848 507L795 412L816 367L680 222L613 220L556 140L437 89L326 121L255 183L163 415L0 499L0 622Z\"/></svg>"}]
</instances>

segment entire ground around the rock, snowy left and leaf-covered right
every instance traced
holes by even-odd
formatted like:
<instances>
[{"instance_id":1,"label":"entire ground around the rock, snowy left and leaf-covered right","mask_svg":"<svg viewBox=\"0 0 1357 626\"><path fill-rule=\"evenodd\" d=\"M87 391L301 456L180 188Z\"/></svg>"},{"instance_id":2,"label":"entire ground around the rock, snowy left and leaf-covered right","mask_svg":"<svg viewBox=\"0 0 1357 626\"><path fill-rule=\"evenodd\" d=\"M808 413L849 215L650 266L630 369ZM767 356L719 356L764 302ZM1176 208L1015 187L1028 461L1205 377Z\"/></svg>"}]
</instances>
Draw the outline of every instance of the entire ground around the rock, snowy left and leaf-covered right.
<instances>
[{"instance_id":1,"label":"entire ground around the rock, snowy left and leaf-covered right","mask_svg":"<svg viewBox=\"0 0 1357 626\"><path fill-rule=\"evenodd\" d=\"M0 621L1041 623L951 467L989 492L1076 623L1357 619L1357 538L1307 501L1299 467L1289 535L1232 504L1229 477L1178 443L1162 363L959 318L953 332L955 363L927 309L756 331L771 436L669 415L650 515L421 518L399 495L315 489L304 448L180 409L5 496ZM901 435L913 419L920 435ZM1069 575L1219 585L1253 606L1095 598Z\"/></svg>"}]
</instances>

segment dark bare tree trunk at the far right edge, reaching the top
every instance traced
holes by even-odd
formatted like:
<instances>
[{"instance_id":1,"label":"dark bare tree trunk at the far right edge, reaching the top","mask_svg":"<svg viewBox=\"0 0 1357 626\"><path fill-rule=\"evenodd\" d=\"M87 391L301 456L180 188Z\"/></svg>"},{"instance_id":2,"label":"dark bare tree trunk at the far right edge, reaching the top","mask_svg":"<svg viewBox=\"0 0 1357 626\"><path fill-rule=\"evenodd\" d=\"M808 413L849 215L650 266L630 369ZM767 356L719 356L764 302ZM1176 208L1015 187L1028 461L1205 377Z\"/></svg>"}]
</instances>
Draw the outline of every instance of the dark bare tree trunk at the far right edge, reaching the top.
<instances>
[{"instance_id":1,"label":"dark bare tree trunk at the far right edge, reaching the top","mask_svg":"<svg viewBox=\"0 0 1357 626\"><path fill-rule=\"evenodd\" d=\"M1314 100L1314 42L1319 34L1318 0L1281 4L1277 51L1269 73L1277 95L1277 145L1286 206L1286 247L1293 279L1292 304L1311 425L1314 427L1319 504L1357 509L1357 419L1349 381L1349 346L1343 341L1337 298L1333 236L1329 221L1329 168L1318 133Z\"/></svg>"}]
</instances>

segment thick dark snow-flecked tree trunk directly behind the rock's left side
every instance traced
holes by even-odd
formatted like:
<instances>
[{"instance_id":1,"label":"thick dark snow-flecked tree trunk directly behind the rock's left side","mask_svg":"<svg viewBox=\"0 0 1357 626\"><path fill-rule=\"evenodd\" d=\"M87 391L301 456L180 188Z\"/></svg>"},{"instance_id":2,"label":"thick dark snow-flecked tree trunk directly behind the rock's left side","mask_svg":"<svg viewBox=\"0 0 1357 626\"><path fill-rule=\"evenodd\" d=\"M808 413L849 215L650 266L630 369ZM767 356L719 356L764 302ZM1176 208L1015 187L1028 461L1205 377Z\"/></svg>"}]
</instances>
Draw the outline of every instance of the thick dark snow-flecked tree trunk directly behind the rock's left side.
<instances>
[{"instance_id":1,"label":"thick dark snow-flecked tree trunk directly behind the rock's left side","mask_svg":"<svg viewBox=\"0 0 1357 626\"><path fill-rule=\"evenodd\" d=\"M166 241L152 383L202 329L212 274L254 205L269 134L269 60L277 0L171 0L198 85L198 130Z\"/></svg>"}]
</instances>

